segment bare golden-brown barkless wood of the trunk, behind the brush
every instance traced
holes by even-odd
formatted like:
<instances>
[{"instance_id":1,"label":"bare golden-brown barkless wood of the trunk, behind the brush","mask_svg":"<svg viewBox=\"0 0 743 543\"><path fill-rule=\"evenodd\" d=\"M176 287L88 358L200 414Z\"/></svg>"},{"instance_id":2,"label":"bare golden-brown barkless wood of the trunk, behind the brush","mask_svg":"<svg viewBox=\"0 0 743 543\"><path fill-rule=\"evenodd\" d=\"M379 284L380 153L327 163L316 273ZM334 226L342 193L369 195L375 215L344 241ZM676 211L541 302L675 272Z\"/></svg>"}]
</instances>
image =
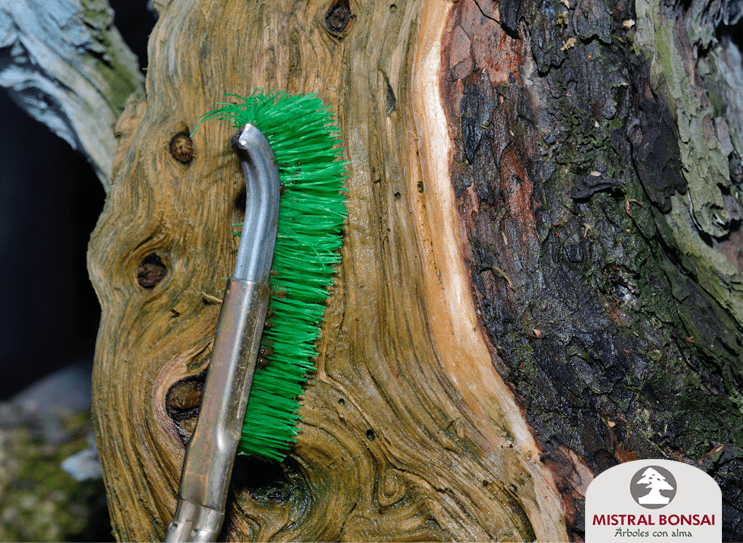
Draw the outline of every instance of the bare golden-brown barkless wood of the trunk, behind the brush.
<instances>
[{"instance_id":1,"label":"bare golden-brown barkless wood of the trunk, behind the brush","mask_svg":"<svg viewBox=\"0 0 743 543\"><path fill-rule=\"evenodd\" d=\"M459 251L440 102L453 4L160 3L146 100L117 130L90 245L103 317L94 410L116 536L157 540L198 412L242 179L222 94L319 91L351 163L343 263L302 433L239 462L225 538L566 538L561 504L493 370ZM172 145L171 145L172 143Z\"/></svg>"}]
</instances>

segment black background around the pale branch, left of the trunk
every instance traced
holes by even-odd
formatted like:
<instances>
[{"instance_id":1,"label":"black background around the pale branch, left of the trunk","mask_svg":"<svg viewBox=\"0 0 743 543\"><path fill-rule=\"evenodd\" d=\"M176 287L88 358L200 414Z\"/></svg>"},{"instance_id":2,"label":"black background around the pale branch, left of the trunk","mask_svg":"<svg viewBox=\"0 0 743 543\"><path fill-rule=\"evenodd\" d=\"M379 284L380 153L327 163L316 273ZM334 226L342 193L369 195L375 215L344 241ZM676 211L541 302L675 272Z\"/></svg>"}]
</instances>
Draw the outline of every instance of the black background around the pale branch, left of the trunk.
<instances>
[{"instance_id":1,"label":"black background around the pale branch, left of the trunk","mask_svg":"<svg viewBox=\"0 0 743 543\"><path fill-rule=\"evenodd\" d=\"M114 23L147 64L155 14L112 0ZM85 252L104 192L87 160L0 90L0 400L93 361L100 308Z\"/></svg>"}]
</instances>

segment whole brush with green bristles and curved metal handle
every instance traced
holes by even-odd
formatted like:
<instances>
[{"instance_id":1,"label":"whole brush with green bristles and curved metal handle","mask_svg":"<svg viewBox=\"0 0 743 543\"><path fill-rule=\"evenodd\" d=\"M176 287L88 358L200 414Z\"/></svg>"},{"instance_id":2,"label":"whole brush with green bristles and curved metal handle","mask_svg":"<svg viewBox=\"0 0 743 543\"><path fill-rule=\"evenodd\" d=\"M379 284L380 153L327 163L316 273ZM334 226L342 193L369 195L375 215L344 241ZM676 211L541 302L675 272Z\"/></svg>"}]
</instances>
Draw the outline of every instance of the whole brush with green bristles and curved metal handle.
<instances>
[{"instance_id":1,"label":"whole brush with green bristles and curved metal handle","mask_svg":"<svg viewBox=\"0 0 743 543\"><path fill-rule=\"evenodd\" d=\"M329 108L316 95L228 96L240 103L219 104L201 122L238 128L245 222L166 541L216 538L236 452L284 459L340 261L347 173Z\"/></svg>"}]
</instances>

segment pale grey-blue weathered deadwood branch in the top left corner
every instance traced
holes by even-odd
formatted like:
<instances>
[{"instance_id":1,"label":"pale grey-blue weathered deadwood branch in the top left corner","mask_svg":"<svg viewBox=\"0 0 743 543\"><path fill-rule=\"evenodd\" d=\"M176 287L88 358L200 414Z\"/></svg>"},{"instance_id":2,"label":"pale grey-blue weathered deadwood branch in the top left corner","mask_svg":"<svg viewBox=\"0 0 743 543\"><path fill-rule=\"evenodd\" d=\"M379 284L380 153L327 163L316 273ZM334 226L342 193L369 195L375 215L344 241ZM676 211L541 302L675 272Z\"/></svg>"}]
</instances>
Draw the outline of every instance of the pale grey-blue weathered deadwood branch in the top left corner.
<instances>
[{"instance_id":1,"label":"pale grey-blue weathered deadwood branch in the top left corner","mask_svg":"<svg viewBox=\"0 0 743 543\"><path fill-rule=\"evenodd\" d=\"M0 1L0 87L110 185L114 124L143 92L137 58L105 0Z\"/></svg>"}]
</instances>

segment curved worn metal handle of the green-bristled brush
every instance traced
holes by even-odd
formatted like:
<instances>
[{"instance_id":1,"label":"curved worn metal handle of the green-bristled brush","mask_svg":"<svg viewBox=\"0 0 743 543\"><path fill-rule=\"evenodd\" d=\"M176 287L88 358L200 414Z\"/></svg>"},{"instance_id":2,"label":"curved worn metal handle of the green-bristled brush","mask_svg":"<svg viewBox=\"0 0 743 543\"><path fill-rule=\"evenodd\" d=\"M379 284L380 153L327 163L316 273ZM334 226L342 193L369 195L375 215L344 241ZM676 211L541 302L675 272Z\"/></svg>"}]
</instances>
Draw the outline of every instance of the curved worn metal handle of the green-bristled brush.
<instances>
[{"instance_id":1,"label":"curved worn metal handle of the green-bristled brush","mask_svg":"<svg viewBox=\"0 0 743 543\"><path fill-rule=\"evenodd\" d=\"M268 307L278 169L268 140L254 126L243 126L230 143L245 175L245 222L166 542L215 541L219 535Z\"/></svg>"}]
</instances>

